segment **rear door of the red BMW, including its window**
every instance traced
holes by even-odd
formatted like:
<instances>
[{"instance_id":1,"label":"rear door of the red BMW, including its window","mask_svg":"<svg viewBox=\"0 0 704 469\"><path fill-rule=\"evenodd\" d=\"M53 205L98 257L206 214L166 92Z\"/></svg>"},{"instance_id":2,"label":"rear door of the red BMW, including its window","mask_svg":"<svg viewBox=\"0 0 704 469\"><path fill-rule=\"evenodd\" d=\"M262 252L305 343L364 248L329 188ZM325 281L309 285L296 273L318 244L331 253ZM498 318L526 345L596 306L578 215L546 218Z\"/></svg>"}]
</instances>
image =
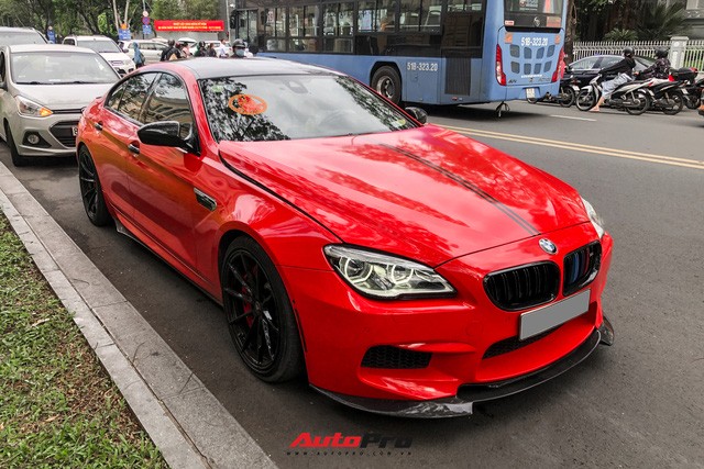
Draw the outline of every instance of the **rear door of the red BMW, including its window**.
<instances>
[{"instance_id":1,"label":"rear door of the red BMW, including its window","mask_svg":"<svg viewBox=\"0 0 704 469\"><path fill-rule=\"evenodd\" d=\"M140 74L123 81L108 94L95 122L89 123L92 127L89 132L95 133L89 149L101 183L110 203L130 222L134 211L127 175L127 161L132 159L128 146L136 139L136 131L142 126L142 105L157 75Z\"/></svg>"}]
</instances>

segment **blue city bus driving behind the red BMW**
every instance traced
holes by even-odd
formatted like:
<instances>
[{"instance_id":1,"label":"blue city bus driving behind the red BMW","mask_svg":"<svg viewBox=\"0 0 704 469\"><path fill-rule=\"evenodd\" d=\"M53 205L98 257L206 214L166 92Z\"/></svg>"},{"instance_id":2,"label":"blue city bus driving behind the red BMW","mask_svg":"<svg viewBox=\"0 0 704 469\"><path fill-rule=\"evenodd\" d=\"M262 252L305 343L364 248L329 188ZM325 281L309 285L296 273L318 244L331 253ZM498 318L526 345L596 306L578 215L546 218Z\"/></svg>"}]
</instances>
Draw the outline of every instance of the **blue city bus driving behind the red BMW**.
<instances>
[{"instance_id":1,"label":"blue city bus driving behind the red BMW","mask_svg":"<svg viewBox=\"0 0 704 469\"><path fill-rule=\"evenodd\" d=\"M239 0L234 35L398 103L557 94L566 0Z\"/></svg>"}]
</instances>

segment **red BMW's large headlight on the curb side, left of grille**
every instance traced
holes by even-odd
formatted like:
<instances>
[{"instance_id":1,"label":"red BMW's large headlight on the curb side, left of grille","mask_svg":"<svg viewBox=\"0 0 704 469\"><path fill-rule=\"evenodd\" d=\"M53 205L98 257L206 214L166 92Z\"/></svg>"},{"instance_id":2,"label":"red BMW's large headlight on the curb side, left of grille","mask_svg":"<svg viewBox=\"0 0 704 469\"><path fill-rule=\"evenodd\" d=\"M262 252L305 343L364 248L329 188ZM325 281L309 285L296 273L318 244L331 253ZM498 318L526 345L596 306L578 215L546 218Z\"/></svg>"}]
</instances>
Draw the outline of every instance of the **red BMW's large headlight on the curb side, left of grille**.
<instances>
[{"instance_id":1,"label":"red BMW's large headlight on the curb side, left of grille","mask_svg":"<svg viewBox=\"0 0 704 469\"><path fill-rule=\"evenodd\" d=\"M360 293L384 300L449 297L454 288L430 267L353 247L324 247L336 271Z\"/></svg>"}]
</instances>

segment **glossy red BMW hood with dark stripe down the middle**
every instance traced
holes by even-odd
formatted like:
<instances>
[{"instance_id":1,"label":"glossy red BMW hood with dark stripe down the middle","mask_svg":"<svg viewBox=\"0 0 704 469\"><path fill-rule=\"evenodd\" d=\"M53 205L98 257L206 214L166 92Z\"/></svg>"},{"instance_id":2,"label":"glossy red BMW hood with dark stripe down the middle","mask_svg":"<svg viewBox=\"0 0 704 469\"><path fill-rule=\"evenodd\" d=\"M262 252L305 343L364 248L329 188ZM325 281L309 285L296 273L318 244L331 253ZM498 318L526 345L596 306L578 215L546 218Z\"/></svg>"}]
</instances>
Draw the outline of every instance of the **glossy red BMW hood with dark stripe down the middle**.
<instances>
[{"instance_id":1,"label":"glossy red BMW hood with dark stripe down the middle","mask_svg":"<svg viewBox=\"0 0 704 469\"><path fill-rule=\"evenodd\" d=\"M232 170L345 243L430 266L588 221L574 189L442 127L221 142Z\"/></svg>"}]
</instances>

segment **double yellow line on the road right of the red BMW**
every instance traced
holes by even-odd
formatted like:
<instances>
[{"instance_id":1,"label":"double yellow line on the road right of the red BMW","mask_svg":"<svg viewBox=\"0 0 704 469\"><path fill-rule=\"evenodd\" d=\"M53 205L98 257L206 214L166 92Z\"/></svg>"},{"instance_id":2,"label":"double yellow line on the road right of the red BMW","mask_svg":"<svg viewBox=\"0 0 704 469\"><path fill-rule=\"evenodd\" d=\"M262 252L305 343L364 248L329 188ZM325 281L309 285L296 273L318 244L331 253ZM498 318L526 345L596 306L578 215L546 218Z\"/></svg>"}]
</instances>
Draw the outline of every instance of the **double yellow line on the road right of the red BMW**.
<instances>
[{"instance_id":1,"label":"double yellow line on the road right of the red BMW","mask_svg":"<svg viewBox=\"0 0 704 469\"><path fill-rule=\"evenodd\" d=\"M505 134L501 132L483 131L479 129L455 127L444 125L446 129L465 134L469 136L483 136L488 138L498 138L510 142L526 143L530 145L541 145L553 148L564 148L574 152L592 153L596 155L613 156L625 159L636 159L640 161L657 163L660 165L680 166L684 168L704 169L704 161L697 159L676 158L673 156L652 155L640 152L629 152L625 149L606 148L601 146L584 145L570 142L553 141L548 138L529 137L525 135Z\"/></svg>"}]
</instances>

